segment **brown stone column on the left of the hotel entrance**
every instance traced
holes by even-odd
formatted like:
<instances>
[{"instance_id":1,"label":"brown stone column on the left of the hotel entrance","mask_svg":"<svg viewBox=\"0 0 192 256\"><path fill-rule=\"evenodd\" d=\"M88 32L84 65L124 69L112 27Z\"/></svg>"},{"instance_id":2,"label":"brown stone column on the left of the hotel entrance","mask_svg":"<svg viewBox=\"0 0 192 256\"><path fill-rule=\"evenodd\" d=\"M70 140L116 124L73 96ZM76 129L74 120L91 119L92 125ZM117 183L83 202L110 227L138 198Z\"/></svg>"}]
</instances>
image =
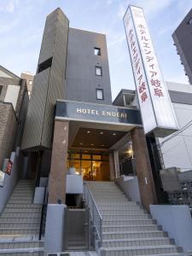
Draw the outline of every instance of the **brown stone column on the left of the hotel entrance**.
<instances>
[{"instance_id":1,"label":"brown stone column on the left of the hotel entrance","mask_svg":"<svg viewBox=\"0 0 192 256\"><path fill-rule=\"evenodd\" d=\"M68 122L55 120L49 173L49 204L65 204L67 180Z\"/></svg>"}]
</instances>

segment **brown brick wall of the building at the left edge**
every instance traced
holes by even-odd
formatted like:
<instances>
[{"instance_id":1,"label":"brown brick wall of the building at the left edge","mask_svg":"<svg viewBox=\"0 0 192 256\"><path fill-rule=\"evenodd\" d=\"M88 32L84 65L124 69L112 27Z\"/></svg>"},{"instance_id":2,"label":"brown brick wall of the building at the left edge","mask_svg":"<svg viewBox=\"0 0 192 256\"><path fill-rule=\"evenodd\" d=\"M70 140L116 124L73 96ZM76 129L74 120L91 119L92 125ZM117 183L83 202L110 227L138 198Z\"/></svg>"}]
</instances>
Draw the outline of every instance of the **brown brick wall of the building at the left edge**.
<instances>
[{"instance_id":1,"label":"brown brick wall of the building at the left edge","mask_svg":"<svg viewBox=\"0 0 192 256\"><path fill-rule=\"evenodd\" d=\"M17 119L10 103L0 102L0 170L14 147Z\"/></svg>"}]
</instances>

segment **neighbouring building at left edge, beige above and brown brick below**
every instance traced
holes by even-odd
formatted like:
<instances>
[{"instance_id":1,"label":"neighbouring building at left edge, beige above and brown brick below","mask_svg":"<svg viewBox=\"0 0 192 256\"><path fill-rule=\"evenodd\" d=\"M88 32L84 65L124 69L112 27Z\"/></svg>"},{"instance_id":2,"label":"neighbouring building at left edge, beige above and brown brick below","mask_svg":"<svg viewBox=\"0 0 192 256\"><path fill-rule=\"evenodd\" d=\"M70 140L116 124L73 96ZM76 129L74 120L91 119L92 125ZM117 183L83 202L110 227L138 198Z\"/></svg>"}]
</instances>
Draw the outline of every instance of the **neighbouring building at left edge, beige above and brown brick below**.
<instances>
[{"instance_id":1,"label":"neighbouring building at left edge, beige above and brown brick below","mask_svg":"<svg viewBox=\"0 0 192 256\"><path fill-rule=\"evenodd\" d=\"M18 146L28 106L26 80L0 66L0 170Z\"/></svg>"}]
</instances>

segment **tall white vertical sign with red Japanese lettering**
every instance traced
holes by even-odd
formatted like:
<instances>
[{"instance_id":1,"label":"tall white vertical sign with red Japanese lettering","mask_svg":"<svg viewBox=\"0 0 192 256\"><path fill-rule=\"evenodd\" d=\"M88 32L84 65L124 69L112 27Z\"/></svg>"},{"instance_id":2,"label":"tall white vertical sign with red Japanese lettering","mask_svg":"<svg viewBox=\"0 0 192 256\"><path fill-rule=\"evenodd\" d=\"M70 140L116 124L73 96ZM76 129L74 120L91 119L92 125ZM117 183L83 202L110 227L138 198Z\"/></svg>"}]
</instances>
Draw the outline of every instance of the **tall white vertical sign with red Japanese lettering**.
<instances>
[{"instance_id":1,"label":"tall white vertical sign with red Japanese lettering","mask_svg":"<svg viewBox=\"0 0 192 256\"><path fill-rule=\"evenodd\" d=\"M143 9L130 6L124 16L138 101L145 134L166 137L177 131L177 119L162 78Z\"/></svg>"}]
</instances>

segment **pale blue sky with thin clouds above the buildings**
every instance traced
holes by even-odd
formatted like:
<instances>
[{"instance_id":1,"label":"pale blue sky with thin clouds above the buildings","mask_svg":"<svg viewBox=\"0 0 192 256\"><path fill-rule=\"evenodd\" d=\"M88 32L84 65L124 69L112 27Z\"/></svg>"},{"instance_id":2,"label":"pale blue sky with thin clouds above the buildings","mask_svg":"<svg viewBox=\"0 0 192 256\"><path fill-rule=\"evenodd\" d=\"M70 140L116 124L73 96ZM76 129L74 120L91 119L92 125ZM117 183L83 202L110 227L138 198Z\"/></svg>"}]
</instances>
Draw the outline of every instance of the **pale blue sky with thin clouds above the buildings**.
<instances>
[{"instance_id":1,"label":"pale blue sky with thin clouds above the buildings","mask_svg":"<svg viewBox=\"0 0 192 256\"><path fill-rule=\"evenodd\" d=\"M19 76L35 74L46 16L60 7L69 26L106 34L113 99L121 89L134 90L123 24L129 4L143 8L164 79L189 84L172 32L192 0L0 0L0 65Z\"/></svg>"}]
</instances>

